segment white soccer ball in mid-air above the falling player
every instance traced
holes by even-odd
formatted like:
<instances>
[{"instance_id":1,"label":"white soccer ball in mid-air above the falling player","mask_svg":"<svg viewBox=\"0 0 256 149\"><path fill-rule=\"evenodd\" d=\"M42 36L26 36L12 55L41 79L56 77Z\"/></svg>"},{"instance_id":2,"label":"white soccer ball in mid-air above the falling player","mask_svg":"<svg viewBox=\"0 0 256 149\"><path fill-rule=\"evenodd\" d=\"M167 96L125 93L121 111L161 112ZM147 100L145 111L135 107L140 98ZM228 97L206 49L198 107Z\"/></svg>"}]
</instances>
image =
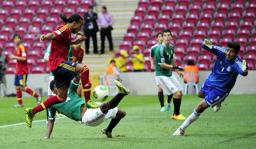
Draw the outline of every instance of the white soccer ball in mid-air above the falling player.
<instances>
[{"instance_id":1,"label":"white soccer ball in mid-air above the falling player","mask_svg":"<svg viewBox=\"0 0 256 149\"><path fill-rule=\"evenodd\" d=\"M105 86L97 86L93 90L93 96L98 101L105 101L107 99L108 94L109 91Z\"/></svg>"}]
</instances>

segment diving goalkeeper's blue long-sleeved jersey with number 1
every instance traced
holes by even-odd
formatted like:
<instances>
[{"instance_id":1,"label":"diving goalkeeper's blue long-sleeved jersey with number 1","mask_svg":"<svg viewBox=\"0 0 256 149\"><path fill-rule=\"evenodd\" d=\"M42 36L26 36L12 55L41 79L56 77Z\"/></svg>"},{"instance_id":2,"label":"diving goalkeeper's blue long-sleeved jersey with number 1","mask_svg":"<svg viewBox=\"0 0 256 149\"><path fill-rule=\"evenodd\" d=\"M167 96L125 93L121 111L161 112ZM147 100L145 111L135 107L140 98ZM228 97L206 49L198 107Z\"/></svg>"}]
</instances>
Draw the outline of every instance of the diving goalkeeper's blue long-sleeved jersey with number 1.
<instances>
[{"instance_id":1,"label":"diving goalkeeper's blue long-sleeved jersey with number 1","mask_svg":"<svg viewBox=\"0 0 256 149\"><path fill-rule=\"evenodd\" d=\"M212 87L228 93L234 87L238 74L242 76L248 75L248 72L246 74L242 73L242 61L238 56L236 56L233 62L229 62L226 59L225 52L227 49L215 45L210 49L207 46L203 46L203 41L201 46L217 56L212 73L208 76Z\"/></svg>"}]
</instances>

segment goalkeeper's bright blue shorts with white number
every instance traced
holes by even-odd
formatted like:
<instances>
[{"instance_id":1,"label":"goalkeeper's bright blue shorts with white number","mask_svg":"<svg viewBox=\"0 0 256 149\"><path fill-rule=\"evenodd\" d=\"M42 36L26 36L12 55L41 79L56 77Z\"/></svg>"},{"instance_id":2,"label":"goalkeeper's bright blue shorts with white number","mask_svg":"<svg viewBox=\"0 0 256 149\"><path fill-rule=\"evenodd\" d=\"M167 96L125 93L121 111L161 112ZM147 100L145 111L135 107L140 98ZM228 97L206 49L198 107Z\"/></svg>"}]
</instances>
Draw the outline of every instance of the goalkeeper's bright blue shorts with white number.
<instances>
[{"instance_id":1,"label":"goalkeeper's bright blue shorts with white number","mask_svg":"<svg viewBox=\"0 0 256 149\"><path fill-rule=\"evenodd\" d=\"M211 107L223 102L229 95L229 92L222 92L211 86L208 78L201 85L200 90L205 95L204 100Z\"/></svg>"}]
</instances>

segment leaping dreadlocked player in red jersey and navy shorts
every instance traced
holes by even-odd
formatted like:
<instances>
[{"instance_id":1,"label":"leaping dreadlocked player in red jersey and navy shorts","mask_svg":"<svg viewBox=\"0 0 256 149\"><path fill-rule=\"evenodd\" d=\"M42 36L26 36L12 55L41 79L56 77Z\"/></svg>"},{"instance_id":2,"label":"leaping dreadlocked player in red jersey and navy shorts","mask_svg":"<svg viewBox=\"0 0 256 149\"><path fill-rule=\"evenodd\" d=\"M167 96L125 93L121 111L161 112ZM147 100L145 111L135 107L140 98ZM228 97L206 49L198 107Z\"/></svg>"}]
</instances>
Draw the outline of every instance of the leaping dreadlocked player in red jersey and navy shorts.
<instances>
[{"instance_id":1,"label":"leaping dreadlocked player in red jersey and navy shorts","mask_svg":"<svg viewBox=\"0 0 256 149\"><path fill-rule=\"evenodd\" d=\"M99 108L100 105L95 104L91 98L91 82L89 80L89 68L86 65L75 62L67 62L68 51L70 45L79 44L86 39L86 37L77 38L71 41L71 33L76 34L83 26L83 18L78 14L72 14L69 18L61 13L60 18L66 24L60 25L54 32L47 35L41 35L40 41L52 40L51 53L49 57L49 70L52 71L55 86L58 90L57 96L47 98L43 103L35 108L27 108L26 122L27 126L31 128L34 115L46 108L50 108L55 104L66 101L67 91L75 74L81 74L81 84L85 96L85 108Z\"/></svg>"}]
</instances>

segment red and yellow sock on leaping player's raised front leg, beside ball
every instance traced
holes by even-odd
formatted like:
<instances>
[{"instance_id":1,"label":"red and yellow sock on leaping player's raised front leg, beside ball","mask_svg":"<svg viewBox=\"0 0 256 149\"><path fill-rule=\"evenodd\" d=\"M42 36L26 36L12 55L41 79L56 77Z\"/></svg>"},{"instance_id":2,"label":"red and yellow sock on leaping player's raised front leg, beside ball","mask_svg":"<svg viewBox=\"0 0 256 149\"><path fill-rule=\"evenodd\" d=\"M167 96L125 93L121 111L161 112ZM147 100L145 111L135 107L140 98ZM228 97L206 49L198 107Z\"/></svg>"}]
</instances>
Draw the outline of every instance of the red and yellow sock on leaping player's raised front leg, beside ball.
<instances>
[{"instance_id":1,"label":"red and yellow sock on leaping player's raised front leg, beside ball","mask_svg":"<svg viewBox=\"0 0 256 149\"><path fill-rule=\"evenodd\" d=\"M89 80L89 68L86 65L84 65L80 74L81 74L82 91L84 93L85 103L87 103L91 99L90 95L91 95L91 87L92 87L92 84Z\"/></svg>"}]
</instances>

